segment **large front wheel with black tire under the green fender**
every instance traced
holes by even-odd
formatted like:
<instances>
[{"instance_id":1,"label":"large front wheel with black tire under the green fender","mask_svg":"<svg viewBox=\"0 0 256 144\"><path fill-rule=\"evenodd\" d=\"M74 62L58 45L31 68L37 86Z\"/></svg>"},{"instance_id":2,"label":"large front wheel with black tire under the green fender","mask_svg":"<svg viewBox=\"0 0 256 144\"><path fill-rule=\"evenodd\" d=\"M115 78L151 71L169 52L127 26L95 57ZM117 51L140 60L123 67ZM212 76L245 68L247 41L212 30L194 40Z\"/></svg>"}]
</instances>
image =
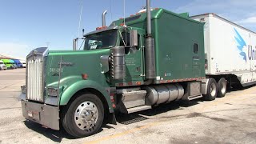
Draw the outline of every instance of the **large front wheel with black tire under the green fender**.
<instances>
[{"instance_id":1,"label":"large front wheel with black tire under the green fender","mask_svg":"<svg viewBox=\"0 0 256 144\"><path fill-rule=\"evenodd\" d=\"M97 133L103 118L104 107L95 94L81 94L62 110L62 126L75 138Z\"/></svg>"}]
</instances>

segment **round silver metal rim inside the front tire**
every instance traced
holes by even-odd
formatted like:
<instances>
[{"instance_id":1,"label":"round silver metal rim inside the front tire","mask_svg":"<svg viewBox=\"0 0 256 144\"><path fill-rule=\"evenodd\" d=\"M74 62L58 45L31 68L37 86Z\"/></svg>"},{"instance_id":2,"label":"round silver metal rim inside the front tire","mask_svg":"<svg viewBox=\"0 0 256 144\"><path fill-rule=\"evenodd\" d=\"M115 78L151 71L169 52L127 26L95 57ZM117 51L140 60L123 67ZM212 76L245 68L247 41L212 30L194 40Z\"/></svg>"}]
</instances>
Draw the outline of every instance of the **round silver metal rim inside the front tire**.
<instances>
[{"instance_id":1,"label":"round silver metal rim inside the front tire","mask_svg":"<svg viewBox=\"0 0 256 144\"><path fill-rule=\"evenodd\" d=\"M74 122L81 130L90 130L98 120L98 108L94 102L82 102L74 112Z\"/></svg>"}]
</instances>

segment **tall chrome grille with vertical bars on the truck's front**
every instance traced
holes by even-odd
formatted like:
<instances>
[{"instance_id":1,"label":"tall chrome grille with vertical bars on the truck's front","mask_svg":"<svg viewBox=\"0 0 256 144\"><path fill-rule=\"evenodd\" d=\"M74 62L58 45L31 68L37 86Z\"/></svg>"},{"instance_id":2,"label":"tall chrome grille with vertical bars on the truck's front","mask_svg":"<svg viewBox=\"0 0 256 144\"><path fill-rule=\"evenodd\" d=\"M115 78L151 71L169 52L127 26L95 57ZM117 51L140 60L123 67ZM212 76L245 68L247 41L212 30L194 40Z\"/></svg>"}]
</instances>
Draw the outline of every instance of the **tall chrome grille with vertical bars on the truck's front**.
<instances>
[{"instance_id":1,"label":"tall chrome grille with vertical bars on the truck's front","mask_svg":"<svg viewBox=\"0 0 256 144\"><path fill-rule=\"evenodd\" d=\"M27 61L26 98L43 102L43 59L35 58Z\"/></svg>"}]
</instances>

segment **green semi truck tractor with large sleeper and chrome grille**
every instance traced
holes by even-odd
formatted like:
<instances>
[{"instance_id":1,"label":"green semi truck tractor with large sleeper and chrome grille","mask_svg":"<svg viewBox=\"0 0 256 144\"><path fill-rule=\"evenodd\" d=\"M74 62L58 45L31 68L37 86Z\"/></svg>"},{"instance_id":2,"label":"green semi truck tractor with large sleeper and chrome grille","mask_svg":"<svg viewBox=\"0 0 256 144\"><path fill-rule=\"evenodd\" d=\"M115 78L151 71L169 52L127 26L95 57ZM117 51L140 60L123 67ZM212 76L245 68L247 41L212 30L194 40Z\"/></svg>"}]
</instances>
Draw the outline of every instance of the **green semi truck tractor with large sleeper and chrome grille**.
<instances>
[{"instance_id":1,"label":"green semi truck tractor with large sleeper and chrome grille","mask_svg":"<svg viewBox=\"0 0 256 144\"><path fill-rule=\"evenodd\" d=\"M162 103L204 97L217 83L206 78L204 23L186 14L150 10L119 19L84 35L83 50L32 50L26 57L22 114L81 138L114 112L134 113Z\"/></svg>"}]
</instances>

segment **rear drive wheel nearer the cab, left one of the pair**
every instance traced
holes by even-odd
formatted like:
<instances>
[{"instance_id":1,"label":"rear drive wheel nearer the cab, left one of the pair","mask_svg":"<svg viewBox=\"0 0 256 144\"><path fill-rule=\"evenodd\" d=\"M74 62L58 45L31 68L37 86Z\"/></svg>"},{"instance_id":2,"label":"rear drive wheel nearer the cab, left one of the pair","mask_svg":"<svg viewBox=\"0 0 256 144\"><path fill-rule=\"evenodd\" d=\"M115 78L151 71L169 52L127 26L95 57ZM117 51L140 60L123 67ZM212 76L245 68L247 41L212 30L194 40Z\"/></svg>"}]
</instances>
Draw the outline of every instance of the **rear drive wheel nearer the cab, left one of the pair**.
<instances>
[{"instance_id":1,"label":"rear drive wheel nearer the cab, left one of the pair","mask_svg":"<svg viewBox=\"0 0 256 144\"><path fill-rule=\"evenodd\" d=\"M206 101L213 101L218 93L217 82L214 78L209 78L208 86L207 86L207 94L204 95L204 99Z\"/></svg>"}]
</instances>

